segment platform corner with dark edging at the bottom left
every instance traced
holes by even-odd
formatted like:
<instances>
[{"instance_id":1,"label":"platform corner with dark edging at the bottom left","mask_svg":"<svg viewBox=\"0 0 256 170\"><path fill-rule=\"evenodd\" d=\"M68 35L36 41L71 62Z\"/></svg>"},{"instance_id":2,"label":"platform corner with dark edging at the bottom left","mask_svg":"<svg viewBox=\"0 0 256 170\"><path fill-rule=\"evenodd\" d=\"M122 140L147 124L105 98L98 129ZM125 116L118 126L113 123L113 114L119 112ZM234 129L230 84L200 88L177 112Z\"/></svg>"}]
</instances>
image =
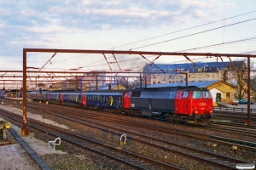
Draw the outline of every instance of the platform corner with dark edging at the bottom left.
<instances>
[{"instance_id":1,"label":"platform corner with dark edging at the bottom left","mask_svg":"<svg viewBox=\"0 0 256 170\"><path fill-rule=\"evenodd\" d=\"M7 130L7 140L0 139L0 169L49 170L41 159L14 129Z\"/></svg>"}]
</instances>

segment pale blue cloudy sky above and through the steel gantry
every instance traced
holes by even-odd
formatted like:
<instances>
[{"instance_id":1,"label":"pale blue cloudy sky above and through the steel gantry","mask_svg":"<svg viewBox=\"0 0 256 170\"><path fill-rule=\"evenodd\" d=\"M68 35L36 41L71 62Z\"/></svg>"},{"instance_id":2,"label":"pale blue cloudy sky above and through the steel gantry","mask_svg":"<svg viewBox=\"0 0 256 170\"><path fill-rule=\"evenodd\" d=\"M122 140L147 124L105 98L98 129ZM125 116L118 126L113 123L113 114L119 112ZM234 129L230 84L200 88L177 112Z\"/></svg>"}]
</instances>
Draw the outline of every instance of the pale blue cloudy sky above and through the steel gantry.
<instances>
[{"instance_id":1,"label":"pale blue cloudy sky above and through the steel gantry","mask_svg":"<svg viewBox=\"0 0 256 170\"><path fill-rule=\"evenodd\" d=\"M255 19L255 0L0 0L0 70L22 70L23 48L255 54ZM52 55L28 54L27 65L41 68ZM122 69L137 71L147 62L116 57ZM188 61L163 56L155 62ZM56 54L51 63L45 71L109 71L101 54Z\"/></svg>"}]
</instances>

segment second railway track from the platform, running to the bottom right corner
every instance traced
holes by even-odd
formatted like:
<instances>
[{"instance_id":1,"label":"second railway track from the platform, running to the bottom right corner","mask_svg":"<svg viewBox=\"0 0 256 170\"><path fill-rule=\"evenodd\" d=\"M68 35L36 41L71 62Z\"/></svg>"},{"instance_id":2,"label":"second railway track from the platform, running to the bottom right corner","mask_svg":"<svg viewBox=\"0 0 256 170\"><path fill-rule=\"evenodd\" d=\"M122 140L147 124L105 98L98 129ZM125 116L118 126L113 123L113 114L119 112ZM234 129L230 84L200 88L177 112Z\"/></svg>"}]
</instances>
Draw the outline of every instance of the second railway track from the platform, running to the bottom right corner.
<instances>
[{"instance_id":1,"label":"second railway track from the platform, running to the bottom right corner","mask_svg":"<svg viewBox=\"0 0 256 170\"><path fill-rule=\"evenodd\" d=\"M32 107L32 106L30 106ZM34 109L39 109L40 108L35 108ZM52 110L45 110L45 111L49 111L52 112ZM55 112L55 111L54 111ZM61 115L60 114L55 114L55 116L59 116L61 118L67 119L69 121L73 121L73 122L77 122L81 125L85 125L85 126L90 126L90 127L94 127L94 128L100 128L101 130L104 131L108 131L108 133L113 133L113 130L119 130L118 128L114 128L114 127L110 127L110 126L105 126L102 125L101 123L96 123L96 122L90 122L90 124L84 123L84 122L89 122L88 119L84 119L81 120L81 116L79 116L79 118L77 116L72 116L72 115L66 115L63 111L61 111ZM91 125L93 124L93 125ZM112 131L109 130L105 130L105 129L112 129ZM183 144L177 144L171 141L167 141L167 140L161 140L161 139L156 139L156 138L152 138L152 137L148 137L139 133L131 133L130 131L124 131L122 130L122 132L124 133L129 133L129 139L132 140L136 140L137 142L141 142L144 144L148 144L152 147L157 147L161 150L168 150L171 152L175 152L179 155L183 155L183 156L189 156L191 158L200 160L200 161L204 161L204 162L208 162L211 163L212 165L216 165L218 167L224 167L224 168L233 168L236 166L237 162L246 162L246 161L241 161L241 160L237 160L228 156L221 156L212 152L208 152L206 150L199 150L199 149L195 149L193 147L189 147L189 146L184 146ZM117 135L119 135L119 133L115 133ZM136 137L133 137L136 136ZM148 141L146 140L142 140L142 139L148 139L148 141L158 141L160 143L162 143L162 145L166 145L169 144L172 147L163 147L162 145L157 145L157 144L152 144L152 143L148 143ZM220 163L221 162L221 163ZM222 165L220 165L222 164Z\"/></svg>"}]
</instances>

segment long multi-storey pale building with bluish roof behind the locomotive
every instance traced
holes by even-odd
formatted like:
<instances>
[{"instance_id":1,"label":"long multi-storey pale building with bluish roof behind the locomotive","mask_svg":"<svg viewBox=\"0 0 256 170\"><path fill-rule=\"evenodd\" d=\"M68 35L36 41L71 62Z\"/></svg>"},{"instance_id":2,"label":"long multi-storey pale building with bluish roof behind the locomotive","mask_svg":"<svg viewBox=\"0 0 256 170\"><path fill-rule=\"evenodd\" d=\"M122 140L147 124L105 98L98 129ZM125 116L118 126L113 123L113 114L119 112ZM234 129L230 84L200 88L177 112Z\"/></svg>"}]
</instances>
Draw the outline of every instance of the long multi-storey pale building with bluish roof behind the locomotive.
<instances>
[{"instance_id":1,"label":"long multi-storey pale building with bluish roof behind the locomotive","mask_svg":"<svg viewBox=\"0 0 256 170\"><path fill-rule=\"evenodd\" d=\"M239 66L238 68L246 67L244 61L146 64L143 68L143 77L146 77L147 84L186 82L186 78L188 82L227 81L232 78L229 71L234 67L231 65Z\"/></svg>"}]
</instances>

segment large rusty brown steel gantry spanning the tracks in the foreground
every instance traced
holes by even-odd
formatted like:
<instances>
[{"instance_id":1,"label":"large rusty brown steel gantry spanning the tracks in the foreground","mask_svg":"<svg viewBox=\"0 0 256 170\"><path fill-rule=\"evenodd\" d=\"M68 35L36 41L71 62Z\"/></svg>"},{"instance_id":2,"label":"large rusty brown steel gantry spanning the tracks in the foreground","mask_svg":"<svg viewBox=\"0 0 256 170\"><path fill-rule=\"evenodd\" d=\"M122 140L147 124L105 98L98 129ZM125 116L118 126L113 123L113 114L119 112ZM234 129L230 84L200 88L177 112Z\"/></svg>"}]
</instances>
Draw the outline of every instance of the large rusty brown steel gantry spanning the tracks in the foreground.
<instances>
[{"instance_id":1,"label":"large rusty brown steel gantry spanning the tracks in the foreground","mask_svg":"<svg viewBox=\"0 0 256 170\"><path fill-rule=\"evenodd\" d=\"M148 52L148 51L119 51L119 50L86 50L86 49L51 49L51 48L23 48L23 127L21 133L24 135L29 134L29 130L27 127L27 119L26 119L26 54L27 53L68 53L68 54L102 54L105 59L105 54L128 54L128 55L156 55L158 58L160 56L185 56L188 58L188 56L207 56L207 57L227 57L230 59L230 57L240 57L240 58L247 58L247 76L250 77L250 58L256 58L256 55L250 55L250 54L212 54L212 53L170 53L170 52ZM53 57L55 56L53 55ZM52 57L52 58L53 58ZM52 59L51 58L51 59ZM107 59L106 59L107 60ZM50 59L49 59L50 61ZM117 61L117 60L116 60ZM108 60L107 60L108 62ZM109 65L109 64L108 64ZM110 65L109 65L110 66ZM111 67L110 67L111 69ZM120 69L120 67L119 67ZM121 69L120 69L121 71ZM247 100L248 100L248 106L247 106L247 124L250 125L251 119L250 119L250 78L247 78Z\"/></svg>"}]
</instances>

